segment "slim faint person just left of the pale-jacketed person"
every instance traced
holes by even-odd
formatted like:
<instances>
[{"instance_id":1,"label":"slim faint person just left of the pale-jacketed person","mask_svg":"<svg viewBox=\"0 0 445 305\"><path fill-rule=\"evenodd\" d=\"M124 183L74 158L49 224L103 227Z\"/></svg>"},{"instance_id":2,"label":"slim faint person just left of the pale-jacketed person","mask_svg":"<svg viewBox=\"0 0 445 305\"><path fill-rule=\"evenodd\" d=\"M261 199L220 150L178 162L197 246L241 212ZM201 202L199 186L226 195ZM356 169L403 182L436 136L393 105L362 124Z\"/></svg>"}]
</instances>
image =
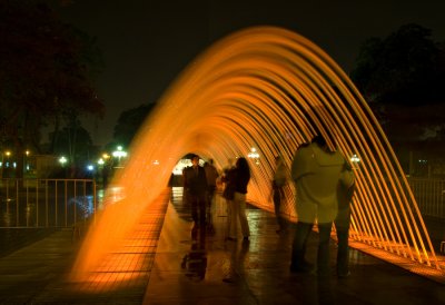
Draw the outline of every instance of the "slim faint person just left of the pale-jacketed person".
<instances>
[{"instance_id":1,"label":"slim faint person just left of the pale-jacketed person","mask_svg":"<svg viewBox=\"0 0 445 305\"><path fill-rule=\"evenodd\" d=\"M284 187L287 184L287 169L283 158L279 156L275 158L275 164L274 180L271 181L275 217L278 223L277 233L283 233L287 230L286 219L281 216L281 201L285 198Z\"/></svg>"}]
</instances>

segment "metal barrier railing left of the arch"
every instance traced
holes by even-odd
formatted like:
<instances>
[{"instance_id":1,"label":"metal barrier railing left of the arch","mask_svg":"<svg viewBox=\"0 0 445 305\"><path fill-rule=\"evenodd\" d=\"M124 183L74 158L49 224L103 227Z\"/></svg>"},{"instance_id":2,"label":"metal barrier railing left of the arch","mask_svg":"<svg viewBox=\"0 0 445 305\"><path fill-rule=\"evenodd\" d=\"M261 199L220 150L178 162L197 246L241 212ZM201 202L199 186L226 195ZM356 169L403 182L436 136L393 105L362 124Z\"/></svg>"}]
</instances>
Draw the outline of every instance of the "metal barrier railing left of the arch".
<instances>
[{"instance_id":1,"label":"metal barrier railing left of the arch","mask_svg":"<svg viewBox=\"0 0 445 305\"><path fill-rule=\"evenodd\" d=\"M1 179L0 227L72 227L97 210L91 179Z\"/></svg>"}]
</instances>

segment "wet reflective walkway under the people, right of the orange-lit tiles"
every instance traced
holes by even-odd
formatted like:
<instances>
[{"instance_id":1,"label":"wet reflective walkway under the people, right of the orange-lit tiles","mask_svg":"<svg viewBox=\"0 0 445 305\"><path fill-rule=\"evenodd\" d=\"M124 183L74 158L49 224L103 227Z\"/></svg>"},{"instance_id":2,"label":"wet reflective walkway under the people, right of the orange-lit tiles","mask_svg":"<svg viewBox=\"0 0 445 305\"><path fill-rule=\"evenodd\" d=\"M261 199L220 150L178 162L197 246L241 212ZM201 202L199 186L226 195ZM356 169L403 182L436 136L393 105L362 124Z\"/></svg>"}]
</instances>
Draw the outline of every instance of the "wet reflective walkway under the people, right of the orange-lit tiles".
<instances>
[{"instance_id":1,"label":"wet reflective walkway under the people, right of the orange-lit tiles","mask_svg":"<svg viewBox=\"0 0 445 305\"><path fill-rule=\"evenodd\" d=\"M295 228L277 234L271 213L249 207L249 242L227 236L225 201L216 198L212 228L197 228L175 190L144 304L444 304L442 284L350 249L352 275L318 278L289 272ZM241 237L241 236L239 236ZM317 234L308 245L316 257ZM336 246L332 244L332 265Z\"/></svg>"}]
</instances>

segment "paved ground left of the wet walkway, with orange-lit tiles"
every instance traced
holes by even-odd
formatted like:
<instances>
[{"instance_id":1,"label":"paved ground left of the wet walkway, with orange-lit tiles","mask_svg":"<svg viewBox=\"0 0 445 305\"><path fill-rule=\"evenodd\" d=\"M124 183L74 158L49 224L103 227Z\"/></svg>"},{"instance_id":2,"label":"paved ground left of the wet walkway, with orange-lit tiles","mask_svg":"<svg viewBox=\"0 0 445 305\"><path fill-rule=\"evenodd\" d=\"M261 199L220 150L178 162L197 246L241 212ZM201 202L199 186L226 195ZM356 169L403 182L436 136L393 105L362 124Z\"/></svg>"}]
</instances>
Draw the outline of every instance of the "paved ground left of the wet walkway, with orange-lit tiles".
<instances>
[{"instance_id":1,"label":"paved ground left of the wet walkway, with orange-lit tiles","mask_svg":"<svg viewBox=\"0 0 445 305\"><path fill-rule=\"evenodd\" d=\"M72 229L0 258L0 304L141 304L169 195L150 205L119 248L81 281L69 277L81 245Z\"/></svg>"}]
</instances>

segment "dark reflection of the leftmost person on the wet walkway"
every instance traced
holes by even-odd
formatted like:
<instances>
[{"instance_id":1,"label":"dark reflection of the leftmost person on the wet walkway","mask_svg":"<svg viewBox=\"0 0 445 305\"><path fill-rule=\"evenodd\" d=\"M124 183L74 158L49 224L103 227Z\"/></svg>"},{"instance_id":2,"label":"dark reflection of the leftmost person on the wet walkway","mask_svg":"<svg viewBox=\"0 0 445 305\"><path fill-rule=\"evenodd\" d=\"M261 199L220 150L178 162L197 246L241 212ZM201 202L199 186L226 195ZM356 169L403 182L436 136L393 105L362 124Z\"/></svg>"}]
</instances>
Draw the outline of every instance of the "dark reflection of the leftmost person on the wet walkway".
<instances>
[{"instance_id":1,"label":"dark reflection of the leftmost person on the wet walkway","mask_svg":"<svg viewBox=\"0 0 445 305\"><path fill-rule=\"evenodd\" d=\"M200 282L206 277L207 252L205 227L192 227L190 252L184 256L181 268L185 269L186 276L194 282Z\"/></svg>"}]
</instances>

